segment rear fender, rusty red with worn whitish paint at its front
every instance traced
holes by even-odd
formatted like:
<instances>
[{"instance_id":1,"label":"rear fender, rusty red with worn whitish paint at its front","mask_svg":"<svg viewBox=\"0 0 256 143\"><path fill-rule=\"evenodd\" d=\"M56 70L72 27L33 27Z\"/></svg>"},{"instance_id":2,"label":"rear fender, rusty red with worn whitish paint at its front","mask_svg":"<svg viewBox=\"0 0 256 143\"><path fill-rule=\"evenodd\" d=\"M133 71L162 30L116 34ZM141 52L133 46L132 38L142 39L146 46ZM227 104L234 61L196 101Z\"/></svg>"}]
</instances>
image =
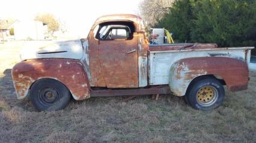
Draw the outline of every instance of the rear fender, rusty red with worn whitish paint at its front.
<instances>
[{"instance_id":1,"label":"rear fender, rusty red with worn whitish paint at its front","mask_svg":"<svg viewBox=\"0 0 256 143\"><path fill-rule=\"evenodd\" d=\"M222 77L228 90L236 92L248 87L246 62L230 57L191 57L173 63L169 72L169 87L176 96L184 96L187 87L202 75Z\"/></svg>"}]
</instances>

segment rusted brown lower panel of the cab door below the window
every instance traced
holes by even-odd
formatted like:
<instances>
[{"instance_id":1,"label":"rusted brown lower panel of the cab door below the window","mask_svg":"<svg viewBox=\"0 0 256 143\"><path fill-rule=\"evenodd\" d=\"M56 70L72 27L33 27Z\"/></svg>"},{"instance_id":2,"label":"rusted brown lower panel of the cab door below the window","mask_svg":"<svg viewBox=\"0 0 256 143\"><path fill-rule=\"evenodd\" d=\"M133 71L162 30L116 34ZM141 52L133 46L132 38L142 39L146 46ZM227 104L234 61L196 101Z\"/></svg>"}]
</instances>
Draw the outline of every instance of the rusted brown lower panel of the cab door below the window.
<instances>
[{"instance_id":1,"label":"rusted brown lower panel of the cab door below the window","mask_svg":"<svg viewBox=\"0 0 256 143\"><path fill-rule=\"evenodd\" d=\"M106 87L138 87L138 37L100 41L99 60ZM134 52L130 52L134 51ZM130 53L129 53L130 52Z\"/></svg>"}]
</instances>

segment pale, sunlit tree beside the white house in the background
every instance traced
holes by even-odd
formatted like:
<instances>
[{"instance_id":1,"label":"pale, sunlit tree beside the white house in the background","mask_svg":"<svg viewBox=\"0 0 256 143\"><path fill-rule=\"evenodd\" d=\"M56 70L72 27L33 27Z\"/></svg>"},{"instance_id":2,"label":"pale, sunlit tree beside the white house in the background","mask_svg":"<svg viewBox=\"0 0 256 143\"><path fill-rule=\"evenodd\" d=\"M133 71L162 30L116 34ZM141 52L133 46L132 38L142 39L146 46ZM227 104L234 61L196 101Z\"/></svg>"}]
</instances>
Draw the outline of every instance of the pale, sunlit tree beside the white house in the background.
<instances>
[{"instance_id":1,"label":"pale, sunlit tree beside the white house in the background","mask_svg":"<svg viewBox=\"0 0 256 143\"><path fill-rule=\"evenodd\" d=\"M53 35L55 31L59 30L59 22L52 14L38 14L35 17L35 20L38 20L43 23L47 23L48 32Z\"/></svg>"}]
</instances>

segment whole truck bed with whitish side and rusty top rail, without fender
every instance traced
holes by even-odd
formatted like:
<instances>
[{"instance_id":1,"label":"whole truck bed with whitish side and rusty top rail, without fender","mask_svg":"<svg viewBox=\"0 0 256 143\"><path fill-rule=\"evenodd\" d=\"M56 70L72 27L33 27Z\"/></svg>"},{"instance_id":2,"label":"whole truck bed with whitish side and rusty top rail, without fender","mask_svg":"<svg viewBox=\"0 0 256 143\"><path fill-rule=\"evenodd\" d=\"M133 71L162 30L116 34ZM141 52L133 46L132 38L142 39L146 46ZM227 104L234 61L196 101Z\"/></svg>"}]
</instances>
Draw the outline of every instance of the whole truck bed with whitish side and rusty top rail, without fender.
<instances>
[{"instance_id":1,"label":"whole truck bed with whitish side and rusty top rail, without fender","mask_svg":"<svg viewBox=\"0 0 256 143\"><path fill-rule=\"evenodd\" d=\"M249 64L251 49L254 47L218 48L216 44L161 44L150 45L149 83L168 84L172 63L189 57L232 57Z\"/></svg>"}]
</instances>

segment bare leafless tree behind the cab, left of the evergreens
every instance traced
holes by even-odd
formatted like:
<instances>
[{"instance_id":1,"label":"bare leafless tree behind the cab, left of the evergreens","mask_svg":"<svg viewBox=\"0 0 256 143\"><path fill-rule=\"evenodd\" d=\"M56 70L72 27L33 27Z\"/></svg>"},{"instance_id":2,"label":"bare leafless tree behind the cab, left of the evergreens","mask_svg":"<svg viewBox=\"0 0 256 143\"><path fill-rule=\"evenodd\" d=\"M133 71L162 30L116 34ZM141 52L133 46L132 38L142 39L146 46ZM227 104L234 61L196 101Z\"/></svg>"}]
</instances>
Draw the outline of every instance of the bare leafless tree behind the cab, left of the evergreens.
<instances>
[{"instance_id":1,"label":"bare leafless tree behind the cab, left of the evergreens","mask_svg":"<svg viewBox=\"0 0 256 143\"><path fill-rule=\"evenodd\" d=\"M139 5L140 15L148 26L154 26L168 13L174 0L144 0Z\"/></svg>"}]
</instances>

